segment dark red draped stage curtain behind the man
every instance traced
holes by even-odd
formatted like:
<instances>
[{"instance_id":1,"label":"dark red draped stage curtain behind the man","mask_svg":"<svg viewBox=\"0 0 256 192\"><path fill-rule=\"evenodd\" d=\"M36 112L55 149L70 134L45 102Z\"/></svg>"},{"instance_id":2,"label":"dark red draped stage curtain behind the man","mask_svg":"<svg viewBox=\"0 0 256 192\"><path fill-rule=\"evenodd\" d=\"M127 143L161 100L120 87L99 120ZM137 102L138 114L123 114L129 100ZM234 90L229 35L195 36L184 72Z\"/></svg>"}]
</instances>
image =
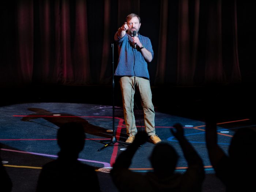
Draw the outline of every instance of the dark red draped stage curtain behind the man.
<instances>
[{"instance_id":1,"label":"dark red draped stage curtain behind the man","mask_svg":"<svg viewBox=\"0 0 256 192\"><path fill-rule=\"evenodd\" d=\"M153 86L241 83L243 73L252 80L242 43L248 7L253 14L255 3L239 0L3 1L1 86L111 85L111 44L131 12L153 45ZM116 67L115 44L114 55Z\"/></svg>"}]
</instances>

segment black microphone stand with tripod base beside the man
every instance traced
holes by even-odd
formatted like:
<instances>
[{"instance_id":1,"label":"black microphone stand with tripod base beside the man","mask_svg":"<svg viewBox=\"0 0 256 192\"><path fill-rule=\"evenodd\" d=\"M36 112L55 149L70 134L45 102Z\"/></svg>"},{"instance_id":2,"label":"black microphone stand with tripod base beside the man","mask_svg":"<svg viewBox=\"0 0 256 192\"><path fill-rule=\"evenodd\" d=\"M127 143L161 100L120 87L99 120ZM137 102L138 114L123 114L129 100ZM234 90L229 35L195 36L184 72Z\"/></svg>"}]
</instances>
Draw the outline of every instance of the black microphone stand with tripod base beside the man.
<instances>
[{"instance_id":1,"label":"black microphone stand with tripod base beside the man","mask_svg":"<svg viewBox=\"0 0 256 192\"><path fill-rule=\"evenodd\" d=\"M109 144L115 144L117 143L124 143L124 144L131 144L131 143L127 143L127 142L122 142L122 141L118 141L116 139L116 131L115 131L115 105L114 105L114 44L111 44L111 48L112 48L112 93L113 93L113 98L112 98L112 114L113 114L113 136L112 139L110 140L110 142L108 144L105 144L103 147L99 148L98 151L103 150L104 148L108 147ZM108 140L104 140L104 141L108 141ZM103 140L101 140L101 142L103 142Z\"/></svg>"}]
</instances>

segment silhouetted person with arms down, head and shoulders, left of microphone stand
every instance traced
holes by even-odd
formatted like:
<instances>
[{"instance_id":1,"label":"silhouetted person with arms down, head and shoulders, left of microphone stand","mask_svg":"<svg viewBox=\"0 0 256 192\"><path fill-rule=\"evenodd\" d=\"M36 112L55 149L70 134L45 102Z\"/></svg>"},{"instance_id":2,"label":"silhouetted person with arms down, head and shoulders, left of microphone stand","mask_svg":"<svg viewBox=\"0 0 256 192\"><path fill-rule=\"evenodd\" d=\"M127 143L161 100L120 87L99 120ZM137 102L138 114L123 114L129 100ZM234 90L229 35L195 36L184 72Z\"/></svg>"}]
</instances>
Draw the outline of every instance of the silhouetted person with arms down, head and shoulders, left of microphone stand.
<instances>
[{"instance_id":1,"label":"silhouetted person with arms down, head and shoulders, left of microphone stand","mask_svg":"<svg viewBox=\"0 0 256 192\"><path fill-rule=\"evenodd\" d=\"M57 139L59 157L42 167L37 191L100 191L94 168L77 160L85 143L83 126L75 122L64 124Z\"/></svg>"}]
</instances>

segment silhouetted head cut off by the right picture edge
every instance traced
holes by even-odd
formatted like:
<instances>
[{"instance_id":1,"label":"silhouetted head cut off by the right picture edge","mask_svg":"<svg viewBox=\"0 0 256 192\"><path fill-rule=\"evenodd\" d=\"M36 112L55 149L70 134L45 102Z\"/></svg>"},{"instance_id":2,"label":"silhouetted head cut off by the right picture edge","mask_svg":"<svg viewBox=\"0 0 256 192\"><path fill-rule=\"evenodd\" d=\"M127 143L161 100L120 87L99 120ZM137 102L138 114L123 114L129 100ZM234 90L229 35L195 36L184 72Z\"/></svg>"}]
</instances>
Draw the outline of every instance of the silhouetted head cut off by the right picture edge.
<instances>
[{"instance_id":1,"label":"silhouetted head cut off by the right picture edge","mask_svg":"<svg viewBox=\"0 0 256 192\"><path fill-rule=\"evenodd\" d=\"M256 131L250 128L241 128L233 136L229 157L236 162L256 162Z\"/></svg>"}]
</instances>

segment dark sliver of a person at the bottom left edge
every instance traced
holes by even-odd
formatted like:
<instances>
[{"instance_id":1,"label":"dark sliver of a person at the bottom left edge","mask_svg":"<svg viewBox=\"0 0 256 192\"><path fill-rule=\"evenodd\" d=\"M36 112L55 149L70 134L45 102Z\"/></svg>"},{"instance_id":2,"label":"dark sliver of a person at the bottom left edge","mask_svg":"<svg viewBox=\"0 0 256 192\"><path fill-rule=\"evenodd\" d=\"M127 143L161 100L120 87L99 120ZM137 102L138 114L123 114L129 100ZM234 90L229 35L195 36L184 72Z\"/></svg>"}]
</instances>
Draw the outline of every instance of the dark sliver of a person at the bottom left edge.
<instances>
[{"instance_id":1,"label":"dark sliver of a person at the bottom left edge","mask_svg":"<svg viewBox=\"0 0 256 192\"><path fill-rule=\"evenodd\" d=\"M1 148L1 145L0 145L0 148ZM1 192L12 191L12 181L11 181L11 178L9 177L8 173L4 169L1 156L0 156L0 191Z\"/></svg>"}]
</instances>

